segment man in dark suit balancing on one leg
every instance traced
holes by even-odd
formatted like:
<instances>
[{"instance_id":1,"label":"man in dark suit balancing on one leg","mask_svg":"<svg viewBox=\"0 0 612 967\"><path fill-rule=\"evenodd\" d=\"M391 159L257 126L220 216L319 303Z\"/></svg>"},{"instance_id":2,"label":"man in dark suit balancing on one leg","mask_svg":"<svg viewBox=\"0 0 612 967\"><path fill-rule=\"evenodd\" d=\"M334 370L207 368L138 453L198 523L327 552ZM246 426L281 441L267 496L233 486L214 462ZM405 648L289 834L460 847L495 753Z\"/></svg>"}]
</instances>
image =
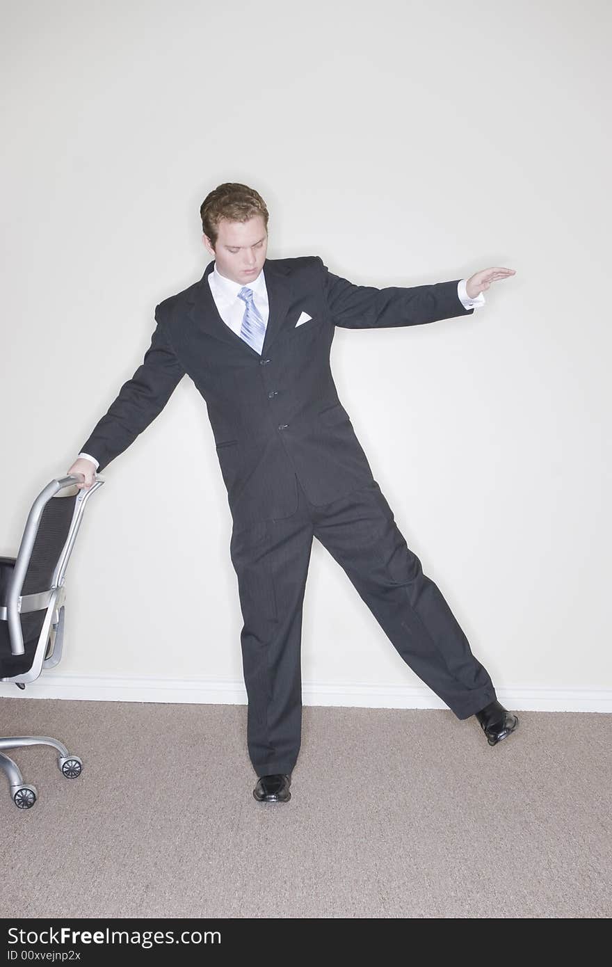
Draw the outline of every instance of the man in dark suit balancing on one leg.
<instances>
[{"instance_id":1,"label":"man in dark suit balancing on one leg","mask_svg":"<svg viewBox=\"0 0 612 967\"><path fill-rule=\"evenodd\" d=\"M69 473L91 486L160 413L187 373L203 396L232 515L230 556L244 619L248 752L260 802L287 802L301 743L301 635L317 537L399 655L490 745L518 719L497 701L448 603L408 549L372 476L330 367L335 326L416 326L470 314L505 268L412 288L354 285L318 255L268 259L268 210L227 183L200 215L214 261L156 308L144 360Z\"/></svg>"}]
</instances>

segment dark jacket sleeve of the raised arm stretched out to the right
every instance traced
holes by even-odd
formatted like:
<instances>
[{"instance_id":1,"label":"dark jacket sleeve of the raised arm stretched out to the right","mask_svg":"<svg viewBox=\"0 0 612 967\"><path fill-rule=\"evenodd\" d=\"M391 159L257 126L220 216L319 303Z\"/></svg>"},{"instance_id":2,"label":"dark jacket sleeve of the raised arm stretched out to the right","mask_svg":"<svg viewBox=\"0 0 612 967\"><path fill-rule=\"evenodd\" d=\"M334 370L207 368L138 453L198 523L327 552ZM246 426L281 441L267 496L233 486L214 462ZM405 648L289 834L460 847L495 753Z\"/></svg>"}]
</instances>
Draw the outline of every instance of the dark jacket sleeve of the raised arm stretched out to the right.
<instances>
[{"instance_id":1,"label":"dark jacket sleeve of the raised arm stretched out to the right","mask_svg":"<svg viewBox=\"0 0 612 967\"><path fill-rule=\"evenodd\" d=\"M459 279L411 288L354 285L335 276L317 255L323 274L323 289L335 325L343 329L384 329L390 326L420 326L425 322L471 315L457 295Z\"/></svg>"}]
</instances>

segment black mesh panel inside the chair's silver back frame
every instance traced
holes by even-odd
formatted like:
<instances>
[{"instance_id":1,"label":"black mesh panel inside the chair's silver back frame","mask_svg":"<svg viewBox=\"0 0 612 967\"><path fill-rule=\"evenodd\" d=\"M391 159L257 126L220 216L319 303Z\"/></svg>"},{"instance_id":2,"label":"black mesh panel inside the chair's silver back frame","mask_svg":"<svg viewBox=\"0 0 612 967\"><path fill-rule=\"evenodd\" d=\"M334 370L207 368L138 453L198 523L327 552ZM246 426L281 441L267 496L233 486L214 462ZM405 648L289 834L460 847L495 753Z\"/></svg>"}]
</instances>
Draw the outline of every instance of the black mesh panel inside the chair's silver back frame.
<instances>
[{"instance_id":1,"label":"black mesh panel inside the chair's silver back frame","mask_svg":"<svg viewBox=\"0 0 612 967\"><path fill-rule=\"evenodd\" d=\"M68 540L77 495L51 497L44 505L22 595L37 595L51 587L53 571ZM20 617L23 641L37 640L43 628L44 611L26 612Z\"/></svg>"}]
</instances>

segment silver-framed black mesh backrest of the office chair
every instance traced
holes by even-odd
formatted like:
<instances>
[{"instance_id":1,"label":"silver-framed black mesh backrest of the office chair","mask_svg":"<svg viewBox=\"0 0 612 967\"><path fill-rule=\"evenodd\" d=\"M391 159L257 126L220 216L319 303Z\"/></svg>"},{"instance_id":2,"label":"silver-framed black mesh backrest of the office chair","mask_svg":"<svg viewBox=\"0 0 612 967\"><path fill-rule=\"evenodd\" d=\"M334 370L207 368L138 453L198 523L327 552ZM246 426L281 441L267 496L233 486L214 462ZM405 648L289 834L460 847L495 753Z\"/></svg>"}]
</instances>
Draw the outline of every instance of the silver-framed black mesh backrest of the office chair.
<instances>
[{"instance_id":1,"label":"silver-framed black mesh backrest of the office chair","mask_svg":"<svg viewBox=\"0 0 612 967\"><path fill-rule=\"evenodd\" d=\"M53 613L63 604L66 568L85 502L104 483L98 479L91 487L80 489L75 480L53 480L36 498L3 595L6 601L0 601L6 605L0 607L0 618L5 619L0 626L8 630L5 641L8 637L13 656L23 656L11 662L16 674L28 670L35 658L39 658L40 673Z\"/></svg>"}]
</instances>

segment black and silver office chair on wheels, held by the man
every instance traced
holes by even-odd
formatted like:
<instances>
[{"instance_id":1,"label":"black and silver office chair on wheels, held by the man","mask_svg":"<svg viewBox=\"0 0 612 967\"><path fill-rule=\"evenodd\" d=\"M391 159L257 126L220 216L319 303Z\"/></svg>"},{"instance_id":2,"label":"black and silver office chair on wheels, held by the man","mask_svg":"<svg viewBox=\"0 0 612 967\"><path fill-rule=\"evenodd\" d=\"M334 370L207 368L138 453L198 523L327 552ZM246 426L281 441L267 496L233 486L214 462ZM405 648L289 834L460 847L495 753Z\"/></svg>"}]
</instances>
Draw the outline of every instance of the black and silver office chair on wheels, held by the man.
<instances>
[{"instance_id":1,"label":"black and silver office chair on wheels, held by the man","mask_svg":"<svg viewBox=\"0 0 612 967\"><path fill-rule=\"evenodd\" d=\"M62 657L64 639L65 574L85 503L104 481L89 488L76 486L76 477L46 484L38 495L15 557L0 557L0 682L19 689L34 682L44 668ZM59 752L63 776L80 776L82 762L66 746L49 736L0 738L0 769L9 779L11 798L19 809L36 803L36 786L26 784L13 759L3 750L51 746Z\"/></svg>"}]
</instances>

